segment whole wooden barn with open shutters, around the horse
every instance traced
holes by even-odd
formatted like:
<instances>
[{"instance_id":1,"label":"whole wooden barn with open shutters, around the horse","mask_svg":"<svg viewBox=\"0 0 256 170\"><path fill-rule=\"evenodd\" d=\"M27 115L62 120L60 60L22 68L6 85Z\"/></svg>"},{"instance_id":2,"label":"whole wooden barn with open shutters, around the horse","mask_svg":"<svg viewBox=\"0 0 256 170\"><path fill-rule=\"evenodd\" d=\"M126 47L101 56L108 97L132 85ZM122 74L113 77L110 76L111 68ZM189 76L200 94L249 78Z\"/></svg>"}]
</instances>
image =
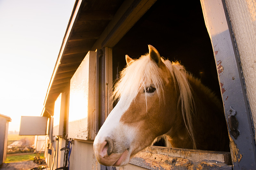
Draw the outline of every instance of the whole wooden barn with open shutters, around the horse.
<instances>
[{"instance_id":1,"label":"whole wooden barn with open shutters, around the horse","mask_svg":"<svg viewBox=\"0 0 256 170\"><path fill-rule=\"evenodd\" d=\"M255 0L76 0L41 115L47 169L256 169L255 28ZM231 152L150 146L124 167L97 162L93 140L125 54L139 58L148 44L217 94Z\"/></svg>"}]
</instances>

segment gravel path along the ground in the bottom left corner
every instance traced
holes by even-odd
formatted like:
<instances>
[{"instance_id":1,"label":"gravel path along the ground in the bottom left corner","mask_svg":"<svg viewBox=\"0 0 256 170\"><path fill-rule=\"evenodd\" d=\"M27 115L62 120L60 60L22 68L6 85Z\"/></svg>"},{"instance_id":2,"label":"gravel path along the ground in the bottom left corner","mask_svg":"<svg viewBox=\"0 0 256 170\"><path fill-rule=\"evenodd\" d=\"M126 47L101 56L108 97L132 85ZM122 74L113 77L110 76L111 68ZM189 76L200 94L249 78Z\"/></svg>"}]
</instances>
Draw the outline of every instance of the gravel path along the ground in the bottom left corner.
<instances>
[{"instance_id":1,"label":"gravel path along the ground in the bottom left corner","mask_svg":"<svg viewBox=\"0 0 256 170\"><path fill-rule=\"evenodd\" d=\"M0 170L28 170L29 168L35 168L38 166L46 166L46 164L43 162L42 165L36 165L33 161L4 163Z\"/></svg>"}]
</instances>

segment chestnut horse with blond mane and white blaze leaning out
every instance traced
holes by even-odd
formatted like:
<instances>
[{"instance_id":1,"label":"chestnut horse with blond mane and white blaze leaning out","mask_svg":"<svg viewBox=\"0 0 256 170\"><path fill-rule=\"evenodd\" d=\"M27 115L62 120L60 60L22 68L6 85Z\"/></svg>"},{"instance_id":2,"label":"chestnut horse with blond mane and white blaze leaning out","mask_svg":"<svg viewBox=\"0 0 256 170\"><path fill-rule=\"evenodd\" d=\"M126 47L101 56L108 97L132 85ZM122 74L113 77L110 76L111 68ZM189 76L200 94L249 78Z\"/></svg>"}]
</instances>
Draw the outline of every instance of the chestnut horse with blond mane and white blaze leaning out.
<instances>
[{"instance_id":1,"label":"chestnut horse with blond mane and white blaze leaning out","mask_svg":"<svg viewBox=\"0 0 256 170\"><path fill-rule=\"evenodd\" d=\"M179 62L148 49L138 60L125 55L127 65L113 91L119 101L93 143L98 162L124 166L161 136L175 148L229 151L220 100Z\"/></svg>"}]
</instances>

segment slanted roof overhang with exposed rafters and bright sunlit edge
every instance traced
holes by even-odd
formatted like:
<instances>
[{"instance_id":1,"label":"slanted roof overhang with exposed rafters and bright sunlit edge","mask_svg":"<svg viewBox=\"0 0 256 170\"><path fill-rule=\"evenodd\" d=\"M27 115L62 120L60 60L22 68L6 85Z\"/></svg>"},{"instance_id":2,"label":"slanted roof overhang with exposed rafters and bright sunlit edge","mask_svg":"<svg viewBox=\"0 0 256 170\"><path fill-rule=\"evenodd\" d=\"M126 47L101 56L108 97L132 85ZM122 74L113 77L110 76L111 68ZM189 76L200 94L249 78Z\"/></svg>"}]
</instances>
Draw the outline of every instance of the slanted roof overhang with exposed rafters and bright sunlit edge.
<instances>
[{"instance_id":1,"label":"slanted roof overhang with exposed rafters and bright sunlit edge","mask_svg":"<svg viewBox=\"0 0 256 170\"><path fill-rule=\"evenodd\" d=\"M51 81L44 101L45 108L52 104L69 84L76 69L114 17L122 1L76 0L62 41ZM48 113L51 112L48 110ZM52 115L52 114L51 114Z\"/></svg>"}]
</instances>

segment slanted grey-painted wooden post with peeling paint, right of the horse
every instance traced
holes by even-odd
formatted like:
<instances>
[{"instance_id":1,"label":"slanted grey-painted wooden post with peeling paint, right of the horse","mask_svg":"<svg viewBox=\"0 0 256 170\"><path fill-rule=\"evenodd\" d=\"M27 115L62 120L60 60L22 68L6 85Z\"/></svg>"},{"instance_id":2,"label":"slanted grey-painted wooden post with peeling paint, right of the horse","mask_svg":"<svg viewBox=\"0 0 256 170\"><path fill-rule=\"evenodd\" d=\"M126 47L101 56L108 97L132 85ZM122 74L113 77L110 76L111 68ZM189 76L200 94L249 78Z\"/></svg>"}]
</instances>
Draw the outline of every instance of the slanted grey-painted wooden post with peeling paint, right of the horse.
<instances>
[{"instance_id":1,"label":"slanted grey-painted wooden post with peeling paint, right of the horse","mask_svg":"<svg viewBox=\"0 0 256 170\"><path fill-rule=\"evenodd\" d=\"M256 169L251 115L226 5L221 0L201 0L201 4L205 25L212 41L225 117L230 124L228 116L231 112L236 112L240 131L239 136L234 137L230 135L231 130L228 128L233 168Z\"/></svg>"}]
</instances>

